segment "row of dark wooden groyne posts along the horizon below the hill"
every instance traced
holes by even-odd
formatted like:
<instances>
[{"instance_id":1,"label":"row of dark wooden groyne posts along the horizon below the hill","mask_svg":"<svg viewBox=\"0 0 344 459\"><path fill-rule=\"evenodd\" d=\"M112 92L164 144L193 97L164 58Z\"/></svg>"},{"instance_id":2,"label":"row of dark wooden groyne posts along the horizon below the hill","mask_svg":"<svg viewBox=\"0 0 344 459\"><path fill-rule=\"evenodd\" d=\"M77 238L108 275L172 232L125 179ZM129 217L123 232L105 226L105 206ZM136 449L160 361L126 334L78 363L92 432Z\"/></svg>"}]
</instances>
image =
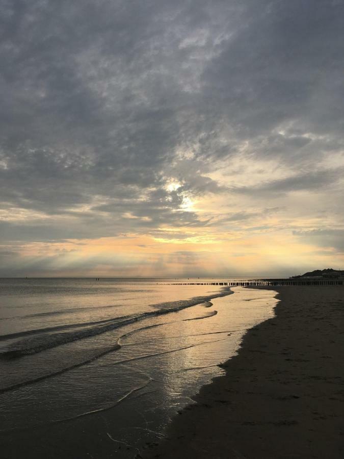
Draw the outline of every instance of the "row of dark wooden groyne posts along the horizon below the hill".
<instances>
[{"instance_id":1,"label":"row of dark wooden groyne posts along the horizon below the hill","mask_svg":"<svg viewBox=\"0 0 344 459\"><path fill-rule=\"evenodd\" d=\"M252 279L250 281L228 282L173 282L173 285L219 285L228 287L260 287L260 286L302 286L302 285L343 285L341 279L321 279L317 281L301 281L300 279Z\"/></svg>"}]
</instances>

